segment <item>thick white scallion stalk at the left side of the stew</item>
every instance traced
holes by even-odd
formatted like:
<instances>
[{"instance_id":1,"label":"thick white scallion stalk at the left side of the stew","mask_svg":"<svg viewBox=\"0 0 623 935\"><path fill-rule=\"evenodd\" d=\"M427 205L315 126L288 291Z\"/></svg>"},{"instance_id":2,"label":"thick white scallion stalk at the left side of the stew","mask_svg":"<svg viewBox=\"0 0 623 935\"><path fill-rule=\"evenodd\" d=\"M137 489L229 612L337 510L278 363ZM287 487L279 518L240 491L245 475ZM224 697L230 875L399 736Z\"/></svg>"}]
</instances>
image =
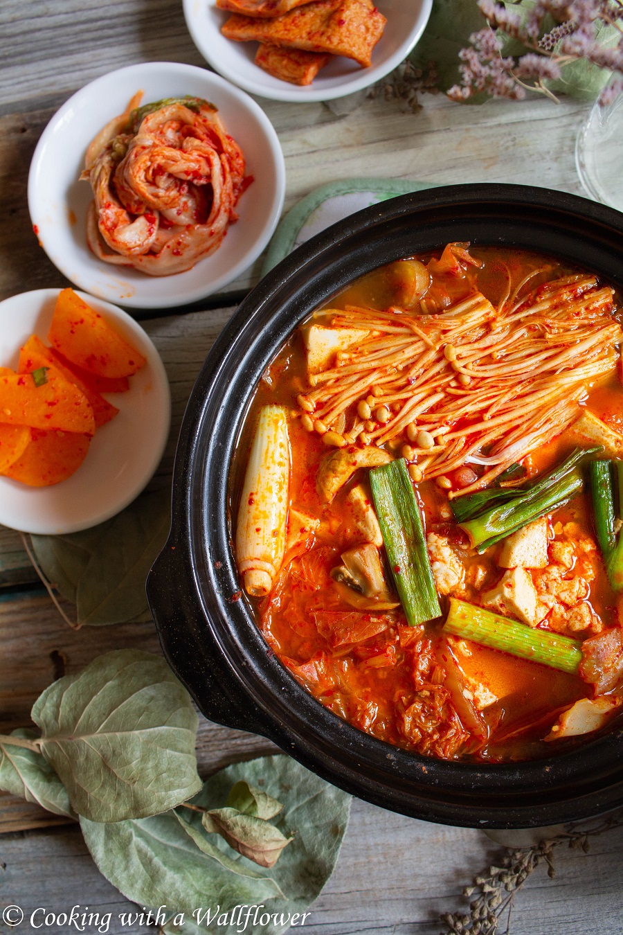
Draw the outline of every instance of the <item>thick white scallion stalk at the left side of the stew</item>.
<instances>
[{"instance_id":1,"label":"thick white scallion stalk at the left side of the stew","mask_svg":"<svg viewBox=\"0 0 623 935\"><path fill-rule=\"evenodd\" d=\"M235 557L245 590L264 597L286 549L290 439L286 413L263 406L248 458L235 532Z\"/></svg>"}]
</instances>

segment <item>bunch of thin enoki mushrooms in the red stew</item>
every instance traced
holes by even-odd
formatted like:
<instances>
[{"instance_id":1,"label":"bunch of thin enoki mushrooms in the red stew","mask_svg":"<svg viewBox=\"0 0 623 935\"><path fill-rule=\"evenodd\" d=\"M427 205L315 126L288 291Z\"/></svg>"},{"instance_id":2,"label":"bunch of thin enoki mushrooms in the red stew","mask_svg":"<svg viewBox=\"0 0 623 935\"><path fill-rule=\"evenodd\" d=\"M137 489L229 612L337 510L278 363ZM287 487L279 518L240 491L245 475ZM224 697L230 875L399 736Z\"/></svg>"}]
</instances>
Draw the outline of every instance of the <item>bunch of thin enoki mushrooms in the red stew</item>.
<instances>
[{"instance_id":1,"label":"bunch of thin enoki mushrooms in the red stew","mask_svg":"<svg viewBox=\"0 0 623 935\"><path fill-rule=\"evenodd\" d=\"M402 442L424 478L485 465L469 493L571 424L588 386L614 370L613 295L576 275L499 309L480 293L441 314L347 306L332 327L368 334L310 376L305 422L339 445Z\"/></svg>"}]
</instances>

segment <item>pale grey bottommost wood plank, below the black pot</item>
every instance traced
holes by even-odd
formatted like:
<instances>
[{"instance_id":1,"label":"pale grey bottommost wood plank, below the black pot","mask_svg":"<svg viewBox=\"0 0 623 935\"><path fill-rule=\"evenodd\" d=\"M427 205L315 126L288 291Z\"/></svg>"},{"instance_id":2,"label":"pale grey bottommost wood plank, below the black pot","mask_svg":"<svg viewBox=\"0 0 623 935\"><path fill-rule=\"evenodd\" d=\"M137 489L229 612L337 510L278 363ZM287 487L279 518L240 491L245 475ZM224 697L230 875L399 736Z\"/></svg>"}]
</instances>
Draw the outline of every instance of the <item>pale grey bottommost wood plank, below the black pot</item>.
<instances>
[{"instance_id":1,"label":"pale grey bottommost wood plank, below the black pot","mask_svg":"<svg viewBox=\"0 0 623 935\"><path fill-rule=\"evenodd\" d=\"M112 913L112 933L148 931L121 925L120 913L134 907L95 869L78 828L7 835L2 845L3 897L20 905L27 921L36 907L61 913L78 904ZM555 879L542 866L517 894L513 935L618 932L622 847L619 827L593 839L587 855L558 848ZM440 914L466 910L462 887L491 863L499 864L503 853L471 828L430 825L355 800L336 870L304 930L307 935L438 935L446 930ZM52 925L46 931L65 935L67 928Z\"/></svg>"}]
</instances>

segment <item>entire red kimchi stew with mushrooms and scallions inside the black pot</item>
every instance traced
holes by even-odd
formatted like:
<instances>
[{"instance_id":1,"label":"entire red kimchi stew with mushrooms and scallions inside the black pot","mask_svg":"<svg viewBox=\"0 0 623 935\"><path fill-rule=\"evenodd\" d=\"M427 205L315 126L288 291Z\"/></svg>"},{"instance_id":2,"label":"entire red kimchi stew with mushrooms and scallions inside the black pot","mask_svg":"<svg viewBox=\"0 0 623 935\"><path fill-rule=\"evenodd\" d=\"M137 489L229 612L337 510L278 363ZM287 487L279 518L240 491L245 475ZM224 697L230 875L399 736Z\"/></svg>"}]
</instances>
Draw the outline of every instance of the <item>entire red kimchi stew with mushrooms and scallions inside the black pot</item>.
<instances>
[{"instance_id":1,"label":"entire red kimchi stew with mushrooms and scallions inside the black pot","mask_svg":"<svg viewBox=\"0 0 623 935\"><path fill-rule=\"evenodd\" d=\"M621 303L536 253L450 243L291 335L234 468L270 647L351 725L500 762L623 703Z\"/></svg>"}]
</instances>

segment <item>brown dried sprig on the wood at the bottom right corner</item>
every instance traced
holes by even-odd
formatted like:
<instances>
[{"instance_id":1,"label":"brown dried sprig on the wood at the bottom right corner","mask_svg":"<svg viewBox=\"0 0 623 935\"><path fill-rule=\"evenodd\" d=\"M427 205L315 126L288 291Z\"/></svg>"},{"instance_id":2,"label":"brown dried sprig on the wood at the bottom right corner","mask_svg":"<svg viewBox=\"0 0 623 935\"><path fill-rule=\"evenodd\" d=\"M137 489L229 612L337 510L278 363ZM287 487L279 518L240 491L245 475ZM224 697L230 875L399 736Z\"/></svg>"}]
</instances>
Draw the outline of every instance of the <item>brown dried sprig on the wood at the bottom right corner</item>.
<instances>
[{"instance_id":1,"label":"brown dried sprig on the wood at the bottom right corner","mask_svg":"<svg viewBox=\"0 0 623 935\"><path fill-rule=\"evenodd\" d=\"M505 935L510 931L510 916L517 893L533 870L547 865L547 876L556 875L554 850L560 844L588 853L589 839L623 826L623 811L598 819L592 825L574 825L555 838L540 841L532 847L511 850L500 861L500 867L489 867L488 873L474 878L471 886L463 889L463 896L471 899L470 911L444 913L442 922L446 932L441 935L496 935L506 914Z\"/></svg>"}]
</instances>

